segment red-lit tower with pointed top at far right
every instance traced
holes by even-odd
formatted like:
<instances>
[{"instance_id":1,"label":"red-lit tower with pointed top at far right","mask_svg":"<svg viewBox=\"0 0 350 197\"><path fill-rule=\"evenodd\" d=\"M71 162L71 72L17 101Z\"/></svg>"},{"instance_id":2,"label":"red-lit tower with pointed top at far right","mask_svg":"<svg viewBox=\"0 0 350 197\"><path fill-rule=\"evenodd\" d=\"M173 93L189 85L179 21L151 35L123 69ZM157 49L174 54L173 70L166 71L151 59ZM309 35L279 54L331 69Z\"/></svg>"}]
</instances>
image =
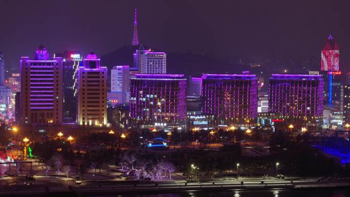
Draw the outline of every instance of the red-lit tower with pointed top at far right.
<instances>
[{"instance_id":1,"label":"red-lit tower with pointed top at far right","mask_svg":"<svg viewBox=\"0 0 350 197\"><path fill-rule=\"evenodd\" d=\"M321 71L339 71L339 48L331 35L321 50Z\"/></svg>"}]
</instances>

